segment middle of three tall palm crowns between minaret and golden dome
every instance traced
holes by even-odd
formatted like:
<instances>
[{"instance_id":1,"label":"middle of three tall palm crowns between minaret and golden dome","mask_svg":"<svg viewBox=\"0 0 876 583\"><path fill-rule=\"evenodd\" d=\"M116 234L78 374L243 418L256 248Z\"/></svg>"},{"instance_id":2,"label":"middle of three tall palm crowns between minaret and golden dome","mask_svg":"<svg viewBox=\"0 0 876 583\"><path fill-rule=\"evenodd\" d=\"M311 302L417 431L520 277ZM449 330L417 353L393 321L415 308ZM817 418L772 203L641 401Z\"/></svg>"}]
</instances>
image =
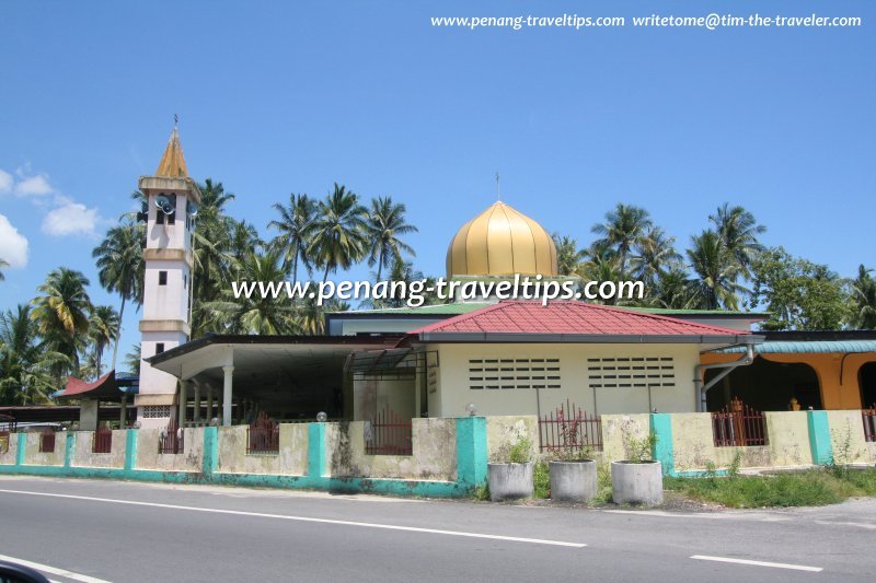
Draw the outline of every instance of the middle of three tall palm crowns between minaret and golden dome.
<instances>
[{"instance_id":1,"label":"middle of three tall palm crowns between minaret and golden dome","mask_svg":"<svg viewBox=\"0 0 876 583\"><path fill-rule=\"evenodd\" d=\"M366 217L359 197L335 183L334 191L320 202L313 221L313 238L308 253L325 269L323 281L337 268L348 269L361 260L366 246Z\"/></svg>"}]
</instances>

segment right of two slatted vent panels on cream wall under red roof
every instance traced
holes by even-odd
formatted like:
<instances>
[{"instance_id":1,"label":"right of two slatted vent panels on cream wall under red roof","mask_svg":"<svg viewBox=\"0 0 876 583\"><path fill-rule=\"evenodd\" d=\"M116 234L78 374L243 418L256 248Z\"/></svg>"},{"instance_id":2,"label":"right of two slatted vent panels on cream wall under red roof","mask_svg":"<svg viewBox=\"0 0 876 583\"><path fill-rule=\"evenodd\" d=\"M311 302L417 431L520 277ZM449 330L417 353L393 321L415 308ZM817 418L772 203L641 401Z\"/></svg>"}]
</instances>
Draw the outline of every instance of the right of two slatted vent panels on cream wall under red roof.
<instances>
[{"instance_id":1,"label":"right of two slatted vent panels on cream wall under red roof","mask_svg":"<svg viewBox=\"0 0 876 583\"><path fill-rule=\"evenodd\" d=\"M676 386L672 357L612 357L587 359L592 388L655 388Z\"/></svg>"}]
</instances>

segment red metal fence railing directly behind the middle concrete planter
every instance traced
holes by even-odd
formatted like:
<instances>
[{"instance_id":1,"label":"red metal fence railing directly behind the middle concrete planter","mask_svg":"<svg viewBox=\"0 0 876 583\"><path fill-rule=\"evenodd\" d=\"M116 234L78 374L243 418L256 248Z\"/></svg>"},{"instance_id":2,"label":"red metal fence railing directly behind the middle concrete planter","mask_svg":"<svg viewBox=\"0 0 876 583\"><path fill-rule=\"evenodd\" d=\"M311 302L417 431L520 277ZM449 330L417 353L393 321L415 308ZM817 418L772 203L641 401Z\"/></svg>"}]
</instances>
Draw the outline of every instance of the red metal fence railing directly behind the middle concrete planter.
<instances>
[{"instance_id":1,"label":"red metal fence railing directly behind the middle concrete planter","mask_svg":"<svg viewBox=\"0 0 876 583\"><path fill-rule=\"evenodd\" d=\"M539 418L539 450L542 452L602 451L602 418L566 400Z\"/></svg>"}]
</instances>

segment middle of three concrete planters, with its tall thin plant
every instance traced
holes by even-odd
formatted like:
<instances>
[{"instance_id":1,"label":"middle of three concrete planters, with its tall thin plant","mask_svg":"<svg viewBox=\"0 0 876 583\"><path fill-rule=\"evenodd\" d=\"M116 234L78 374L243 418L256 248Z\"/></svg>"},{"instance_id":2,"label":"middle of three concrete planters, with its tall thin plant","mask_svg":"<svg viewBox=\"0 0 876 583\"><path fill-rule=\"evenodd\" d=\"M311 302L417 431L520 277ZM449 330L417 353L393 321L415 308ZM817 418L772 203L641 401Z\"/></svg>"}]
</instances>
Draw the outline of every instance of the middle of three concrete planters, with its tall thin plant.
<instances>
[{"instance_id":1,"label":"middle of three concrete planters, with its tall thin plant","mask_svg":"<svg viewBox=\"0 0 876 583\"><path fill-rule=\"evenodd\" d=\"M596 460L592 450L584 445L586 440L579 415L566 419L563 407L556 410L563 450L557 459L549 464L552 500L588 502L596 497Z\"/></svg>"}]
</instances>

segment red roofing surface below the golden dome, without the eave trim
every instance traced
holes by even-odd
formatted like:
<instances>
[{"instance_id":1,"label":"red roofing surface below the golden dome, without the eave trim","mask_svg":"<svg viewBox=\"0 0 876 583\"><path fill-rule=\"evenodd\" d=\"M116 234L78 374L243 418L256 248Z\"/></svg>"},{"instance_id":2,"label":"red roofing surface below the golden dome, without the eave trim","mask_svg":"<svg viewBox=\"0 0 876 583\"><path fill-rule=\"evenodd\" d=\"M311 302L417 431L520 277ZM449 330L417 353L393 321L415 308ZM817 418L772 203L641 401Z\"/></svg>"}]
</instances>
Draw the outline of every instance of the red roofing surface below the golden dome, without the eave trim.
<instances>
[{"instance_id":1,"label":"red roofing surface below the golden dome, without the eave trim","mask_svg":"<svg viewBox=\"0 0 876 583\"><path fill-rule=\"evenodd\" d=\"M585 302L555 301L542 305L532 301L506 301L411 334L740 336L748 333Z\"/></svg>"}]
</instances>

